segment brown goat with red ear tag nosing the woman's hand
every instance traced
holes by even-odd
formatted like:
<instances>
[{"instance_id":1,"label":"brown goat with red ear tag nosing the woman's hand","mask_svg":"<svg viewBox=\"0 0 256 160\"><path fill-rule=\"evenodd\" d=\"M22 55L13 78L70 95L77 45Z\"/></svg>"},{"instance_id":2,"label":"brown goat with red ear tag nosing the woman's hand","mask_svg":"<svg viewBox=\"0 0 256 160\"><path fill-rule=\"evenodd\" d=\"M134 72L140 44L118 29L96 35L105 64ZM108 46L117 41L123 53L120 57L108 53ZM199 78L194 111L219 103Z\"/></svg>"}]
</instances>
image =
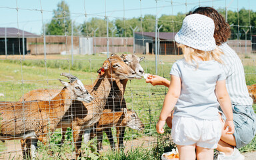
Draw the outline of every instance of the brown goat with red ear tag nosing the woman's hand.
<instances>
[{"instance_id":1,"label":"brown goat with red ear tag nosing the woman's hand","mask_svg":"<svg viewBox=\"0 0 256 160\"><path fill-rule=\"evenodd\" d=\"M57 127L73 129L73 137L75 143L76 159L81 155L81 140L84 131L91 131L94 123L99 121L101 113L107 103L107 97L113 87L113 82L117 79L134 79L135 72L128 67L121 57L111 55L109 59L104 61L102 67L97 71L99 73L93 85L85 85L85 88L93 95L94 99L91 103L79 103L75 101L69 110L65 113L63 119ZM37 89L34 90L33 97L30 93L26 93L21 99L50 99L50 95L55 95L57 89ZM36 94L39 96L36 96ZM20 100L21 100L20 99Z\"/></svg>"}]
</instances>

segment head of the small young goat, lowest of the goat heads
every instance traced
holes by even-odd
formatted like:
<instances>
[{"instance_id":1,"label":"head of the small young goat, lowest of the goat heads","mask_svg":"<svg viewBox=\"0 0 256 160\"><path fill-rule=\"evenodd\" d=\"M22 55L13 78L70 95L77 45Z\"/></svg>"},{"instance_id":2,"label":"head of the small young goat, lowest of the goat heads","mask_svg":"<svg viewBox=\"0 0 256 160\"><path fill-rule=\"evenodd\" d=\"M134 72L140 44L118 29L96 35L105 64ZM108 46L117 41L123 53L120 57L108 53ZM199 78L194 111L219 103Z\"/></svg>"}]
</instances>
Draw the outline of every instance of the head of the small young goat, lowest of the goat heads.
<instances>
[{"instance_id":1,"label":"head of the small young goat, lowest of the goat heads","mask_svg":"<svg viewBox=\"0 0 256 160\"><path fill-rule=\"evenodd\" d=\"M137 131L143 131L144 125L135 111L125 108L123 112L125 113L125 120L127 120L127 127Z\"/></svg>"}]
</instances>

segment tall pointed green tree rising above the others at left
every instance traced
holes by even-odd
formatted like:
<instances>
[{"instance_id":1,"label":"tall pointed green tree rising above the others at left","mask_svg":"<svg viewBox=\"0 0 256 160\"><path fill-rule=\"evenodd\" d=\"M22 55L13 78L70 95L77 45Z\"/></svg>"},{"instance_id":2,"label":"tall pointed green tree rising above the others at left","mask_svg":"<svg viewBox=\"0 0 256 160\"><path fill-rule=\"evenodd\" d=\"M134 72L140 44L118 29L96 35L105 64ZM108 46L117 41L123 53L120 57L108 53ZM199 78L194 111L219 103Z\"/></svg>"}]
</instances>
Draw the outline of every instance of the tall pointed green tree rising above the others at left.
<instances>
[{"instance_id":1,"label":"tall pointed green tree rising above the others at left","mask_svg":"<svg viewBox=\"0 0 256 160\"><path fill-rule=\"evenodd\" d=\"M65 1L57 4L57 10L53 10L53 18L45 29L47 35L71 35L71 17L69 6Z\"/></svg>"}]
</instances>

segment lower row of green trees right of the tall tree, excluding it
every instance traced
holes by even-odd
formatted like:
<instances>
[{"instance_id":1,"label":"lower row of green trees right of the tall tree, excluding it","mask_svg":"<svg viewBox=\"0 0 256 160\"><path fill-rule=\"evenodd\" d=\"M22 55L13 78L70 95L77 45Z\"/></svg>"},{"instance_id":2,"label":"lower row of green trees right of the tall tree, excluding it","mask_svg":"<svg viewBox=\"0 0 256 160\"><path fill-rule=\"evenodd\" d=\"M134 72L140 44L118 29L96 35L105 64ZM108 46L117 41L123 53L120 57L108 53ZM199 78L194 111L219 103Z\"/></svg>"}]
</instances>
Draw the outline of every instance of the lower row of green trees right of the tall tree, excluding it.
<instances>
[{"instance_id":1,"label":"lower row of green trees right of the tall tree, excluding it","mask_svg":"<svg viewBox=\"0 0 256 160\"><path fill-rule=\"evenodd\" d=\"M225 17L225 9L218 9L218 12ZM182 21L185 18L185 13L177 13L177 15L161 15L158 21L158 27L163 25L160 32L177 32L181 29ZM240 39L245 39L245 31L251 29L247 34L247 39L256 33L256 12L246 9L240 9L237 11L227 11L227 20L231 27L231 38L237 39L237 33L239 33ZM250 23L249 23L250 21ZM251 27L249 27L251 25ZM133 29L137 26L136 31L143 32L155 32L155 15L145 15L143 18L133 17L132 19L115 19L115 21L109 21L109 37L111 37L111 29L116 28L114 37L133 37ZM141 29L142 26L142 29ZM81 25L82 32L85 35L93 36L93 29L99 27L96 33L97 37L107 37L107 21L105 19L99 19L93 17L87 23ZM250 34L251 33L251 34Z\"/></svg>"}]
</instances>

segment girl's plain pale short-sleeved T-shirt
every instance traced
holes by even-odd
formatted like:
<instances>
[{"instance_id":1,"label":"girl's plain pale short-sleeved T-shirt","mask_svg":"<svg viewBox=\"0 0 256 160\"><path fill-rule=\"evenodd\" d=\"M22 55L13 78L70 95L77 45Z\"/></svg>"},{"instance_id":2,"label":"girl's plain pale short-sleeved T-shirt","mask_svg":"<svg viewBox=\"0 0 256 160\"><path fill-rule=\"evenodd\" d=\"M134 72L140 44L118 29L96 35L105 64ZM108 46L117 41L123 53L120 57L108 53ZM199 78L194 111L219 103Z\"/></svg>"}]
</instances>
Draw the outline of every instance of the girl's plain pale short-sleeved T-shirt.
<instances>
[{"instance_id":1,"label":"girl's plain pale short-sleeved T-shirt","mask_svg":"<svg viewBox=\"0 0 256 160\"><path fill-rule=\"evenodd\" d=\"M181 95L175 105L175 116L218 119L219 103L215 95L217 81L225 80L223 66L217 61L199 61L199 68L179 59L171 75L181 79Z\"/></svg>"}]
</instances>

